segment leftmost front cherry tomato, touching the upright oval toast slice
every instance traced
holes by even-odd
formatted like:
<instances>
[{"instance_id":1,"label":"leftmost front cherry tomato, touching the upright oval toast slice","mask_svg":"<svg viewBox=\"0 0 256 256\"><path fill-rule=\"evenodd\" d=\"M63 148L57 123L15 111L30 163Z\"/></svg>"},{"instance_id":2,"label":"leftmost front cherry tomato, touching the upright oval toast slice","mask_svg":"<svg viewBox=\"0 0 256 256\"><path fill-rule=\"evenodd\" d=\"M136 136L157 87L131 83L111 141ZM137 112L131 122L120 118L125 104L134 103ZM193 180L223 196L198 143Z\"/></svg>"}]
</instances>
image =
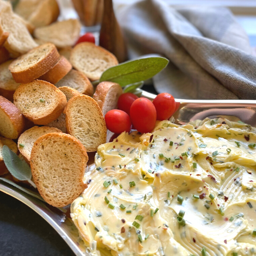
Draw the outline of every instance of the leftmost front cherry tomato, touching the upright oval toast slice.
<instances>
[{"instance_id":1,"label":"leftmost front cherry tomato, touching the upright oval toast slice","mask_svg":"<svg viewBox=\"0 0 256 256\"><path fill-rule=\"evenodd\" d=\"M130 132L132 122L130 116L121 110L110 110L105 114L106 127L112 133Z\"/></svg>"}]
</instances>

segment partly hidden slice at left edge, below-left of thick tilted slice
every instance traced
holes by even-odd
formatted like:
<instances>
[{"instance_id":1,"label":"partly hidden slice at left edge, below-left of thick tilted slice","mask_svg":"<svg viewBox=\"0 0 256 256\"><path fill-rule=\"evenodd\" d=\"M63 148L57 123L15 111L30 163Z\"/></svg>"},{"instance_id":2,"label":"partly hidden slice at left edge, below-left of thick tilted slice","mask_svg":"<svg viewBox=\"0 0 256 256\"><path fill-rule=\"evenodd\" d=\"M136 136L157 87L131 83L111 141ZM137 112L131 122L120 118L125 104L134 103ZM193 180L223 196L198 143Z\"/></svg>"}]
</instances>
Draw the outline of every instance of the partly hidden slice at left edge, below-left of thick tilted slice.
<instances>
[{"instance_id":1,"label":"partly hidden slice at left edge, below-left of thick tilted slice","mask_svg":"<svg viewBox=\"0 0 256 256\"><path fill-rule=\"evenodd\" d=\"M18 88L19 83L16 83L9 70L9 65L12 60L6 61L0 65L0 95L13 101L13 94Z\"/></svg>"}]
</instances>

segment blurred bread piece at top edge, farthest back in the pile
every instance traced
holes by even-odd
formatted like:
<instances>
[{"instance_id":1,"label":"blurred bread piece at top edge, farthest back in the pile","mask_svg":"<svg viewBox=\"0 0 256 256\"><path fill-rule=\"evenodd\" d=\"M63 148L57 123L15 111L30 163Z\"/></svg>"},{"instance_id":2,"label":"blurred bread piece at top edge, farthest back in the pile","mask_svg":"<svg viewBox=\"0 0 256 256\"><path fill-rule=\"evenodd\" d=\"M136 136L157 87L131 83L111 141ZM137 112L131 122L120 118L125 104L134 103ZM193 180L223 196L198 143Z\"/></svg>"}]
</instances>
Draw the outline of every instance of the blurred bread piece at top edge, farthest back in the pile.
<instances>
[{"instance_id":1,"label":"blurred bread piece at top edge, farthest back in the pile","mask_svg":"<svg viewBox=\"0 0 256 256\"><path fill-rule=\"evenodd\" d=\"M59 16L56 0L19 0L14 11L35 27L47 26Z\"/></svg>"}]
</instances>

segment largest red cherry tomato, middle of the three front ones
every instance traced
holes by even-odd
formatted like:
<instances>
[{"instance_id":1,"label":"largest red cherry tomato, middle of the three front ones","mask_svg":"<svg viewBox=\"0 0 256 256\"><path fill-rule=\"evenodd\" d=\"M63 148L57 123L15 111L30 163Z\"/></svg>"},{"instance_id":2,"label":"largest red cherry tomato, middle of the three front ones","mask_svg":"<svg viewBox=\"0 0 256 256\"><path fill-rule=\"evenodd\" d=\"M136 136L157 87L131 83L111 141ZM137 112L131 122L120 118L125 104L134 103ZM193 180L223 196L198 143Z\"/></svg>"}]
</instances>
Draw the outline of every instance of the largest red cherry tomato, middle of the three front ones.
<instances>
[{"instance_id":1,"label":"largest red cherry tomato, middle of the three front ones","mask_svg":"<svg viewBox=\"0 0 256 256\"><path fill-rule=\"evenodd\" d=\"M149 99L136 99L131 105L130 116L135 129L140 133L149 133L155 127L157 112Z\"/></svg>"}]
</instances>

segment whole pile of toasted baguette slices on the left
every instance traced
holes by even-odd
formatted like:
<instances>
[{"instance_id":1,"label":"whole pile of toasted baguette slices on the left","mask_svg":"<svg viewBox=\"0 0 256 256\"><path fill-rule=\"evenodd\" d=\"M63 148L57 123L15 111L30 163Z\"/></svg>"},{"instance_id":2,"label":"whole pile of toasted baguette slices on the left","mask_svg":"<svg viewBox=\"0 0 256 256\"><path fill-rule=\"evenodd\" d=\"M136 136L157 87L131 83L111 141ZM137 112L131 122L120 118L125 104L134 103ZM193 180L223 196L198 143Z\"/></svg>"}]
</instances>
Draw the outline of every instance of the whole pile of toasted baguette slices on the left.
<instances>
[{"instance_id":1,"label":"whole pile of toasted baguette slices on the left","mask_svg":"<svg viewBox=\"0 0 256 256\"><path fill-rule=\"evenodd\" d=\"M33 2L42 8L39 2L47 5L52 1ZM20 3L30 2L20 0L16 8L20 11ZM63 27L61 22L39 26L33 8L23 13L25 20L0 0L0 176L19 182L3 161L2 150L7 145L30 164L33 182L45 201L62 207L87 187L83 182L87 152L97 151L98 145L106 142L104 115L116 108L122 94L117 83L101 82L95 89L91 81L118 61L90 42L72 48L77 38L66 38L69 50L62 48L64 38L59 38L58 45L51 31L63 29L64 33L65 27L71 31L72 24L78 22L67 20ZM55 16L52 14L51 22ZM18 22L16 19L17 29L10 25ZM37 27L34 35L40 45L29 32L29 22ZM1 49L8 53L5 59Z\"/></svg>"}]
</instances>

